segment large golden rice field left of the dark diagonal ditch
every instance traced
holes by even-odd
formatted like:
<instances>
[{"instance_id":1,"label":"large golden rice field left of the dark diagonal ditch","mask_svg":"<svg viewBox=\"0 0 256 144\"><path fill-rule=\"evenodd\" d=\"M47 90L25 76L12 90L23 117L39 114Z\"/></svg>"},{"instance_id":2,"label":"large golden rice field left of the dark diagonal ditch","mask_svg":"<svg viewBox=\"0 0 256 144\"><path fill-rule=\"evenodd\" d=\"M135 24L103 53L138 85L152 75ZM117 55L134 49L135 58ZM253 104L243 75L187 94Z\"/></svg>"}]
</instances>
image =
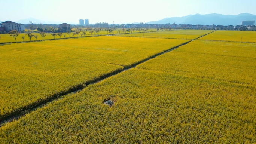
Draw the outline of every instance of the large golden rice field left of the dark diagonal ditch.
<instances>
[{"instance_id":1,"label":"large golden rice field left of the dark diagonal ditch","mask_svg":"<svg viewBox=\"0 0 256 144\"><path fill-rule=\"evenodd\" d=\"M0 46L0 120L185 42L102 36Z\"/></svg>"}]
</instances>

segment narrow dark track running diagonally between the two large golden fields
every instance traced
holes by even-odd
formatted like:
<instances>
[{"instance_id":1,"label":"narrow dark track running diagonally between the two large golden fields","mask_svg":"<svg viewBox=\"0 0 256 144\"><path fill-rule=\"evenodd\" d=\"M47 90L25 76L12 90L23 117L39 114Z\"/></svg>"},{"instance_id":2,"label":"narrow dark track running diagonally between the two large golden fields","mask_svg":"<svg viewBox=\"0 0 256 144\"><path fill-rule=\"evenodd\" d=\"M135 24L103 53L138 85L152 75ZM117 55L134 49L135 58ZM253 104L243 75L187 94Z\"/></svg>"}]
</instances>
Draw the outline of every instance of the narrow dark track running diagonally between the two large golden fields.
<instances>
[{"instance_id":1,"label":"narrow dark track running diagonally between the two large golden fields","mask_svg":"<svg viewBox=\"0 0 256 144\"><path fill-rule=\"evenodd\" d=\"M214 32L214 31L211 31L210 33L213 33L213 32ZM199 39L199 38L201 38L201 37L203 37L203 36L206 36L206 35L208 35L208 34L210 34L210 33L204 34L204 35L202 35L202 36L200 36L200 37L197 37L196 39ZM193 39L193 40L196 40L196 39ZM88 85L92 85L92 84L98 83L98 82L100 82L100 81L102 81L102 80L104 80L104 79L107 79L107 78L109 78L109 77L111 77L111 76L114 76L114 75L116 75L116 74L119 74L119 73L121 73L121 72L123 72L123 71L127 71L127 70L129 70L129 69L131 69L131 68L136 67L137 65L139 65L139 64L141 64L141 63L143 63L143 62L149 61L150 59L156 58L157 56L160 56L160 55L162 55L162 54L164 54L164 53L171 52L172 50L177 49L177 48L179 48L180 46L186 45L186 44L192 42L193 40L190 40L190 41L188 41L188 42L182 43L182 44L180 44L180 45L178 45L178 46L175 46L175 47L173 47L173 48L170 48L170 49L168 49L168 50L165 50L165 51L163 51L163 52L160 52L160 53L157 53L157 54L155 54L155 55L152 55L152 56L150 56L149 58L146 58L146 59L143 59L143 60L141 60L141 61L138 61L138 62L136 62L136 63L134 63L134 64L132 64L132 65L130 65L130 66L128 66L128 67L124 67L124 69L122 69L122 70L117 70L117 71L114 71L114 72L112 72L112 73L108 73L108 74L106 74L106 75L104 75L104 76L101 76L101 77L99 77L98 79L95 79L95 80L91 80L91 81L89 81L89 82L86 82L86 83L85 83L85 86L80 85L80 86L77 86L77 87L75 87L75 88L69 89L69 90L66 91L66 92L63 92L63 93L58 94L58 95L54 95L54 97L52 97L51 99L47 99L47 100L45 100L45 101L43 101L43 102L40 102L40 103L38 103L38 104L34 104L33 107L24 108L22 111L18 111L18 112L16 112L15 114L11 114L11 115L9 115L9 116L6 116L6 117L4 117L4 119L2 119L2 120L0 121L0 127L6 125L6 123L12 122L13 120L18 120L20 117L25 116L26 114L30 113L31 111L35 111L35 110L37 110L37 109L39 109L39 108L45 107L45 106L48 105L49 103L56 102L56 101L58 101L58 100L61 100L61 99L64 98L65 96L69 96L69 95L74 94L74 93L76 93L76 92L78 92L78 91L81 91L82 89L86 88Z\"/></svg>"}]
</instances>

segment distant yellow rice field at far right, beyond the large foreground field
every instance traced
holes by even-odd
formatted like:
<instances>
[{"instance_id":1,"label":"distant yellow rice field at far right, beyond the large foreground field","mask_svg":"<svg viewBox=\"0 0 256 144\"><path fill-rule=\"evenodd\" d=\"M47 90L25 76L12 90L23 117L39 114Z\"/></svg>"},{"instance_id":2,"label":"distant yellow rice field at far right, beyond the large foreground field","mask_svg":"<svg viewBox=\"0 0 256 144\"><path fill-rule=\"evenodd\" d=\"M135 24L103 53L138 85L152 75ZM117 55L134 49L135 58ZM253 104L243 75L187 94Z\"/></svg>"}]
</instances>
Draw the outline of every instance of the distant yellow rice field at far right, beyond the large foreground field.
<instances>
[{"instance_id":1,"label":"distant yellow rice field at far right, beyond the large foreground field","mask_svg":"<svg viewBox=\"0 0 256 144\"><path fill-rule=\"evenodd\" d=\"M214 31L199 40L221 40L231 42L256 43L256 31Z\"/></svg>"}]
</instances>

